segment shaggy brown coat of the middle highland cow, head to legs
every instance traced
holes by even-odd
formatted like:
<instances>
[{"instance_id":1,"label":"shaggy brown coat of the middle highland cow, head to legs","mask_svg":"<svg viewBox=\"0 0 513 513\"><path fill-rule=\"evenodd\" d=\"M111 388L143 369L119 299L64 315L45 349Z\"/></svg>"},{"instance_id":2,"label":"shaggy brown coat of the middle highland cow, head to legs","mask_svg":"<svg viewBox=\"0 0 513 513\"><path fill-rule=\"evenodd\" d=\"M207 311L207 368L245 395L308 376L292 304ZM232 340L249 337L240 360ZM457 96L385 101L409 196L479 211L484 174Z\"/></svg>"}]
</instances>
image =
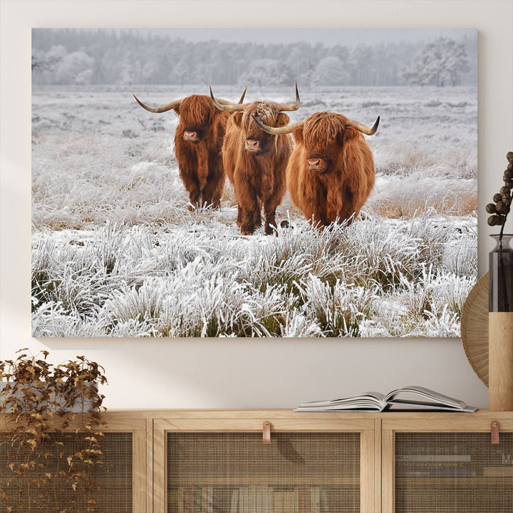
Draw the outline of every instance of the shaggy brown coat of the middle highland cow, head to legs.
<instances>
[{"instance_id":1,"label":"shaggy brown coat of the middle highland cow, head to legs","mask_svg":"<svg viewBox=\"0 0 513 513\"><path fill-rule=\"evenodd\" d=\"M243 235L251 235L261 226L264 207L265 232L276 227L276 207L286 191L285 168L292 151L290 135L269 135L252 116L262 123L285 126L289 116L279 112L274 102L253 102L233 113L227 123L222 145L224 169L234 185L239 204L237 224ZM251 145L253 151L248 150Z\"/></svg>"}]
</instances>

